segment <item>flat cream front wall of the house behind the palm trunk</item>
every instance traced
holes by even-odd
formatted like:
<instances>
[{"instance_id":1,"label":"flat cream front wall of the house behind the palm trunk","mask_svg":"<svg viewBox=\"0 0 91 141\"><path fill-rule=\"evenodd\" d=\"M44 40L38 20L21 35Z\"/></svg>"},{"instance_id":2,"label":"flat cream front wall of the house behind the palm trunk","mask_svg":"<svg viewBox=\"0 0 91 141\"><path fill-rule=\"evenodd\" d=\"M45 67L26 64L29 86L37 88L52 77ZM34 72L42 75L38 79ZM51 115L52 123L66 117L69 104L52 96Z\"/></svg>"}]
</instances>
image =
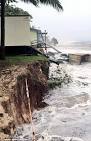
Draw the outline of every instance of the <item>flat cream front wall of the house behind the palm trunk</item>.
<instances>
[{"instance_id":1,"label":"flat cream front wall of the house behind the palm trunk","mask_svg":"<svg viewBox=\"0 0 91 141\"><path fill-rule=\"evenodd\" d=\"M30 45L30 22L28 16L5 17L5 45Z\"/></svg>"}]
</instances>

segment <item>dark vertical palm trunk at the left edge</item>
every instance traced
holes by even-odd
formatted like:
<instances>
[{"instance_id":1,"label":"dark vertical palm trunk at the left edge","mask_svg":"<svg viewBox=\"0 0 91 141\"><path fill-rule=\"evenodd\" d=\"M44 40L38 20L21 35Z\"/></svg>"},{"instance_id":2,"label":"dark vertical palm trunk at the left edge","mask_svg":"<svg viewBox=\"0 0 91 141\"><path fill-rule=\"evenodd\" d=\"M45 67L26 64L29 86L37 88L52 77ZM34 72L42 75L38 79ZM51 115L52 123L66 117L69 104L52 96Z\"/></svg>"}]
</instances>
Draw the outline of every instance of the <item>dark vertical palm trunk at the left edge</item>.
<instances>
[{"instance_id":1,"label":"dark vertical palm trunk at the left edge","mask_svg":"<svg viewBox=\"0 0 91 141\"><path fill-rule=\"evenodd\" d=\"M5 59L5 0L1 0L1 49L0 59Z\"/></svg>"}]
</instances>

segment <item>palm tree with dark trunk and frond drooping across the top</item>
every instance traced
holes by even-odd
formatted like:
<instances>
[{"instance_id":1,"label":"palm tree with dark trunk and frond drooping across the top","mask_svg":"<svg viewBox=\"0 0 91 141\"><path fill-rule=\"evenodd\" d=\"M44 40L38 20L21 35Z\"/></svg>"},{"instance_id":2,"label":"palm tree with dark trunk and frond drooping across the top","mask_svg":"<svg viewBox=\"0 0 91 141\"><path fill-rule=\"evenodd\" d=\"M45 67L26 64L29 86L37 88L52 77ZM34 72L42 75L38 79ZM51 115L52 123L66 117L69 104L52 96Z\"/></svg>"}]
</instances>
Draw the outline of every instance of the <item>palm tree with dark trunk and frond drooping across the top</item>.
<instances>
[{"instance_id":1,"label":"palm tree with dark trunk and frond drooping across the top","mask_svg":"<svg viewBox=\"0 0 91 141\"><path fill-rule=\"evenodd\" d=\"M8 0L8 2L12 2L15 0ZM32 3L35 6L38 6L39 3L51 5L53 8L58 11L63 10L63 7L59 0L21 0L26 3ZM6 0L0 0L1 3L1 53L0 58L5 59L5 2Z\"/></svg>"}]
</instances>

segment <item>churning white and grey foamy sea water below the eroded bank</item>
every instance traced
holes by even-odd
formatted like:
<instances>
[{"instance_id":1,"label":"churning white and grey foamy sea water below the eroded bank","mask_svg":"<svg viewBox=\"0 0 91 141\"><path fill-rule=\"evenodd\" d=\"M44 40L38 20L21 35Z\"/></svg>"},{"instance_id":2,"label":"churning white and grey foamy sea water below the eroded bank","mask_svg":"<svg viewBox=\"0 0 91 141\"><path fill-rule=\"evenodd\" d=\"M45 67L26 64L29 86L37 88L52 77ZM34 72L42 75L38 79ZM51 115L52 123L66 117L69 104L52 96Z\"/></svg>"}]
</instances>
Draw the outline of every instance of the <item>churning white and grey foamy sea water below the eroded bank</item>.
<instances>
[{"instance_id":1,"label":"churning white and grey foamy sea water below the eroded bank","mask_svg":"<svg viewBox=\"0 0 91 141\"><path fill-rule=\"evenodd\" d=\"M86 51L90 51L90 45ZM68 50L71 50L69 47ZM60 49L60 47L59 47ZM73 48L72 48L73 49ZM62 48L60 49L62 50ZM82 47L74 51L85 51ZM57 65L51 64L50 71ZM91 141L91 63L60 64L72 81L49 91L49 106L33 113L33 126L39 141ZM17 128L19 139L32 140L31 124Z\"/></svg>"}]
</instances>

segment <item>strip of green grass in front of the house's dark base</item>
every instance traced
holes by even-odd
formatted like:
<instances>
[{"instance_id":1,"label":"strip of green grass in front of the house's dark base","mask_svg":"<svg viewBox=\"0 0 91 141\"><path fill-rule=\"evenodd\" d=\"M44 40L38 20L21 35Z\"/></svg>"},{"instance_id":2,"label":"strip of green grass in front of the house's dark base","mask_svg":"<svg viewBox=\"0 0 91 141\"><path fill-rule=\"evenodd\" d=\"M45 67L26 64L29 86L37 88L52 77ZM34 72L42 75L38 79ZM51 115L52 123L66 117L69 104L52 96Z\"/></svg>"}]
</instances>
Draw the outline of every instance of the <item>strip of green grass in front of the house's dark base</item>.
<instances>
[{"instance_id":1,"label":"strip of green grass in front of the house's dark base","mask_svg":"<svg viewBox=\"0 0 91 141\"><path fill-rule=\"evenodd\" d=\"M5 62L9 64L29 63L35 61L48 61L48 59L43 55L38 55L38 56L17 55L17 56L8 56L6 57L5 60Z\"/></svg>"}]
</instances>

